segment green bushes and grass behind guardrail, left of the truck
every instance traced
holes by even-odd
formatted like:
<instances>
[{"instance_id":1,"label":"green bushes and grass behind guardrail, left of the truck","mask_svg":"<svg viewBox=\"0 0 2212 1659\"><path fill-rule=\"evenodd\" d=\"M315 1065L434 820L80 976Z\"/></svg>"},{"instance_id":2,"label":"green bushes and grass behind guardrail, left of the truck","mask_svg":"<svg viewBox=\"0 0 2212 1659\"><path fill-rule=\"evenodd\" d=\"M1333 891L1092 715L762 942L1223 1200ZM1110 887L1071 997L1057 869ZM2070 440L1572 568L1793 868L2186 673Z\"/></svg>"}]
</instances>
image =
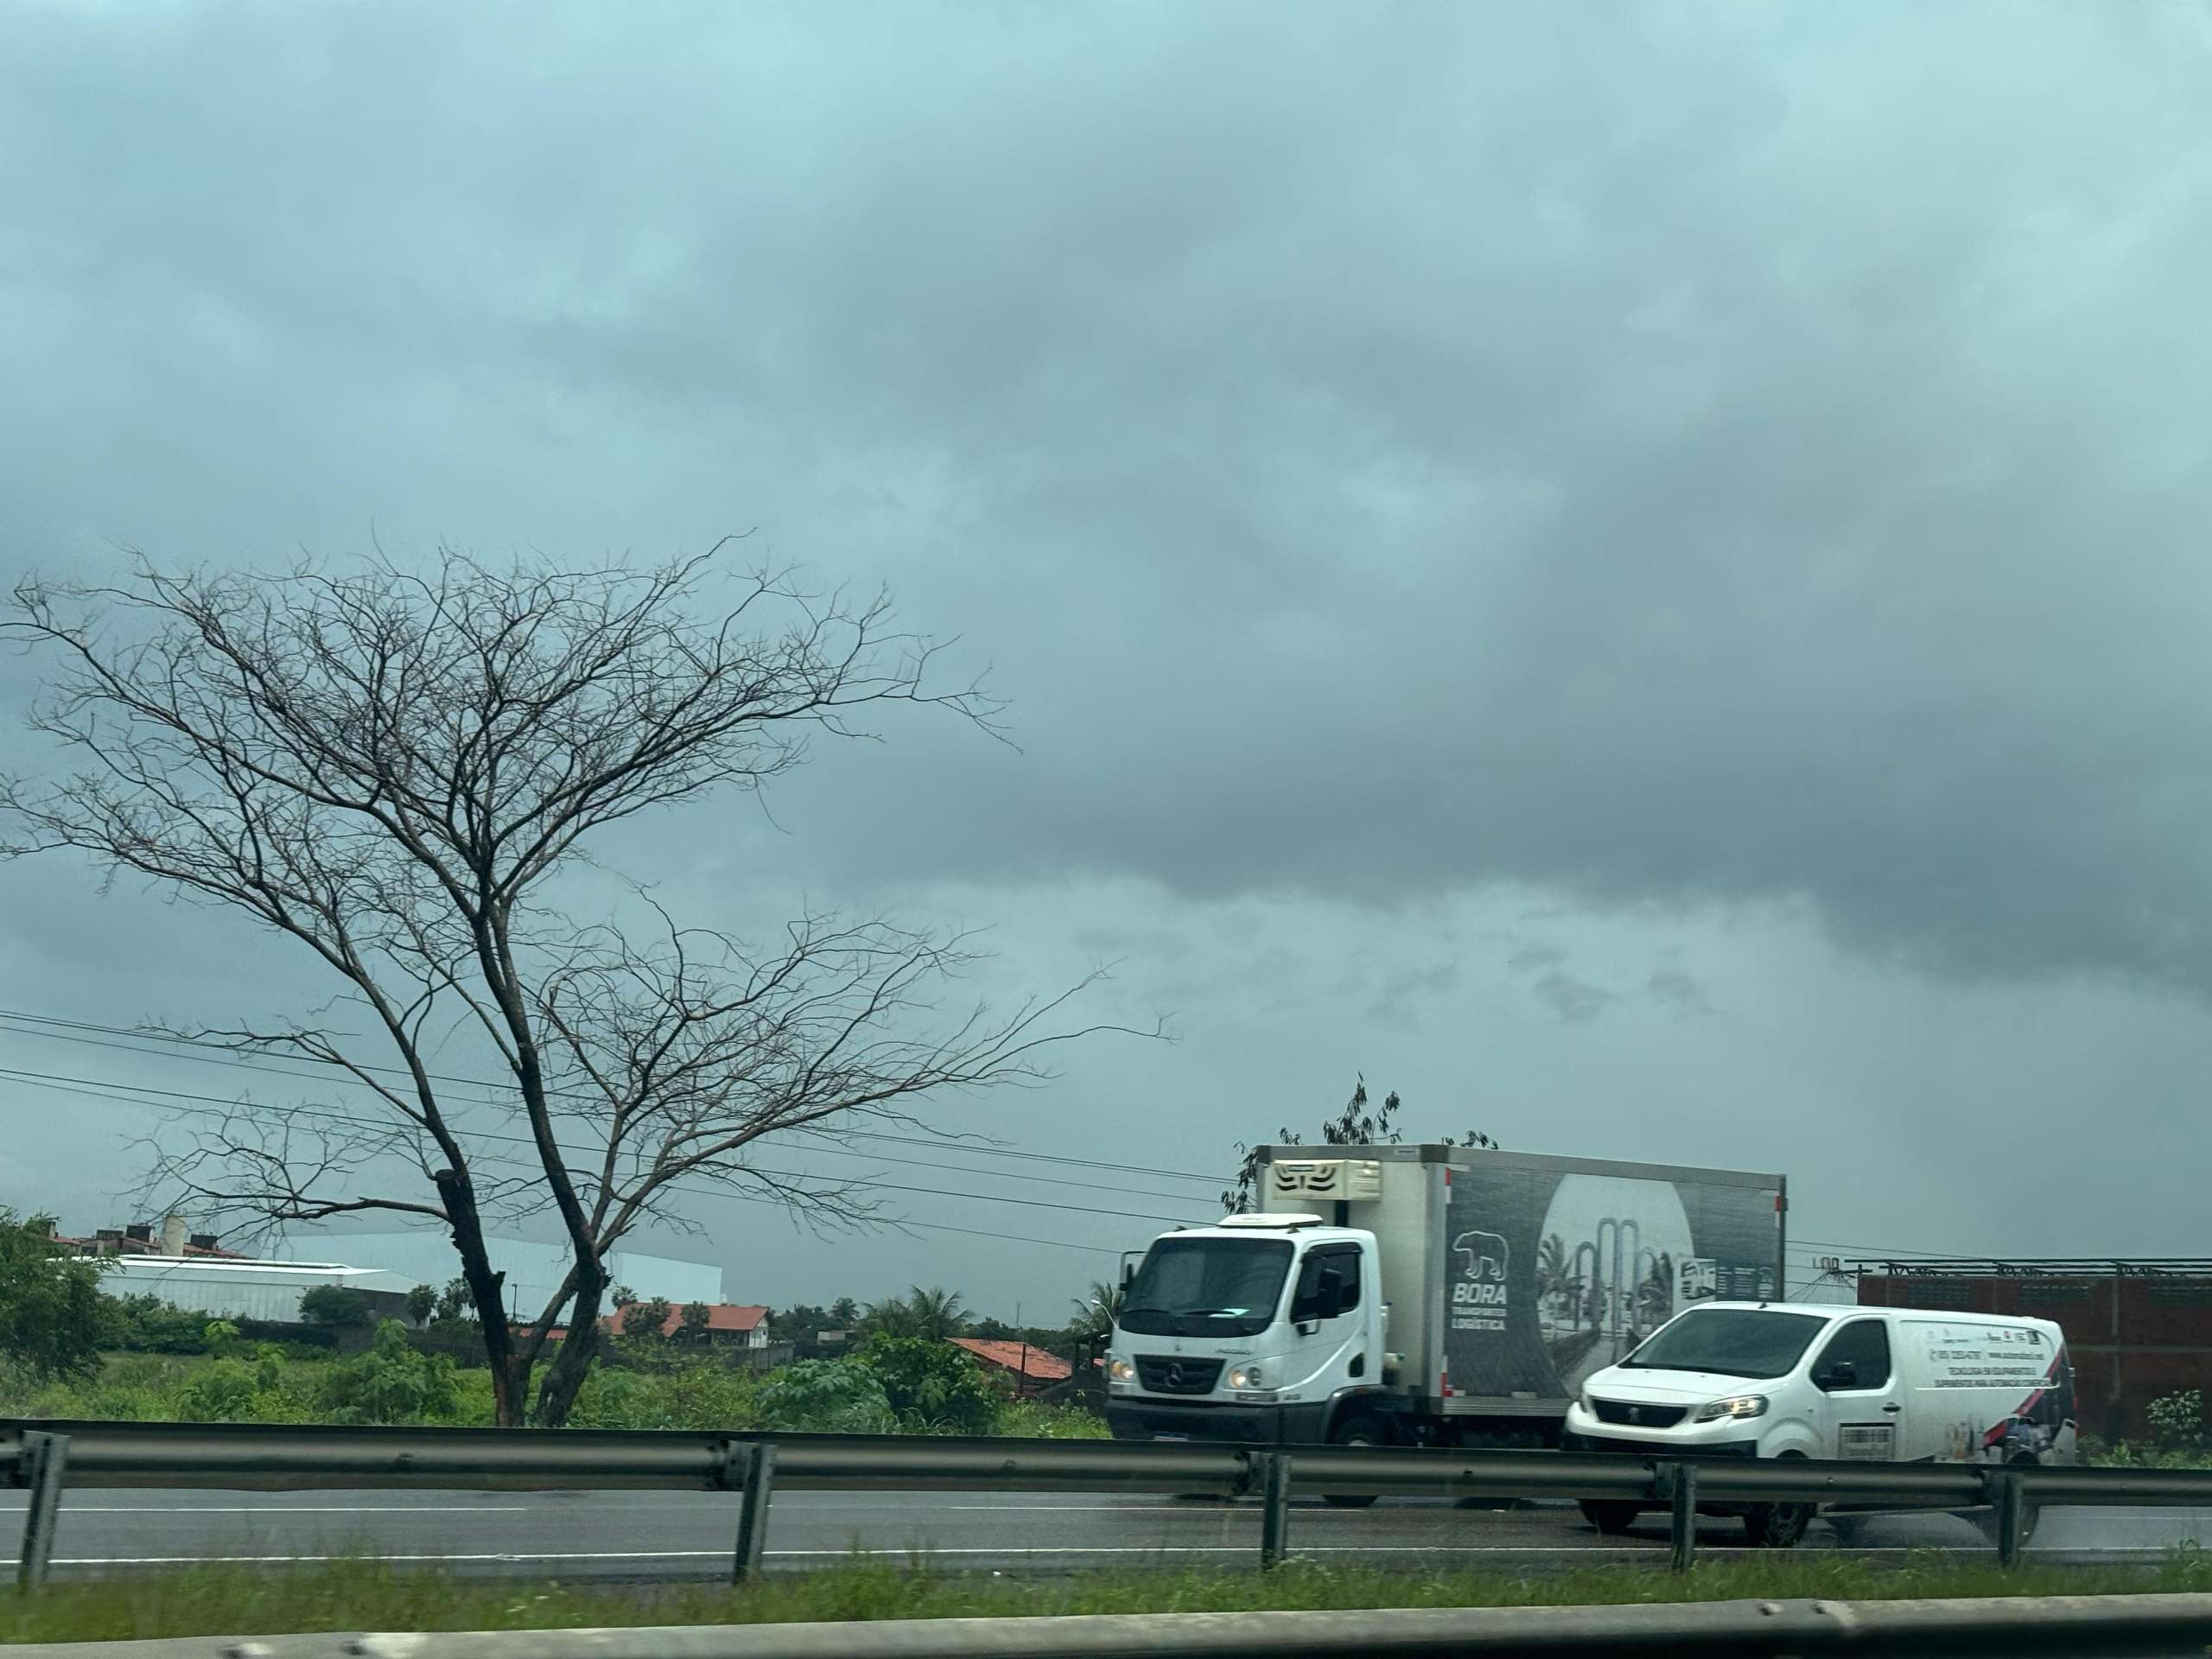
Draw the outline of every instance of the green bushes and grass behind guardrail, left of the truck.
<instances>
[{"instance_id":1,"label":"green bushes and grass behind guardrail, left of the truck","mask_svg":"<svg viewBox=\"0 0 2212 1659\"><path fill-rule=\"evenodd\" d=\"M153 1296L111 1296L100 1259L71 1256L46 1217L0 1210L0 1416L119 1422L334 1422L491 1427L493 1369L467 1318L467 1285L418 1285L409 1323L376 1321L367 1298L316 1290L299 1325L239 1325ZM1040 1352L1082 1356L1095 1285L1064 1332L1022 1332ZM956 1292L849 1310L856 1338L834 1358L754 1369L743 1349L706 1338L706 1310L633 1303L599 1340L566 1411L577 1429L783 1429L787 1433L964 1433L1097 1438L1106 1425L1073 1402L1022 1398L949 1338L1004 1327L975 1321ZM692 1312L699 1318L692 1318ZM818 1334L825 1310L794 1310ZM1011 1334L1011 1332L1009 1332ZM790 1349L785 1349L790 1352ZM473 1358L473 1363L469 1363Z\"/></svg>"}]
</instances>

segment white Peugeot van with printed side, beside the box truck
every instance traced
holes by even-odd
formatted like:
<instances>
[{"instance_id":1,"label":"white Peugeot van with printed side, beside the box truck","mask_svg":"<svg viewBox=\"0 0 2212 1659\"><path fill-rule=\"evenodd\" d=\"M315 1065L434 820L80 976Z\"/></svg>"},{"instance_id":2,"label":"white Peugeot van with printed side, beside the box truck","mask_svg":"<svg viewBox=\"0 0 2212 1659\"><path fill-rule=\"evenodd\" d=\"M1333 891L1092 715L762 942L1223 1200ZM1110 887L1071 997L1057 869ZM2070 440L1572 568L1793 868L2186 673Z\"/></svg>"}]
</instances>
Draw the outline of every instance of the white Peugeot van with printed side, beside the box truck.
<instances>
[{"instance_id":1,"label":"white Peugeot van with printed side, beside the box truck","mask_svg":"<svg viewBox=\"0 0 2212 1659\"><path fill-rule=\"evenodd\" d=\"M2066 1334L2048 1318L1911 1307L1703 1303L1566 1411L1573 1451L1865 1462L2073 1462ZM1639 1504L1590 1502L1604 1533ZM1812 1504L1732 1511L1754 1544L1787 1548Z\"/></svg>"}]
</instances>

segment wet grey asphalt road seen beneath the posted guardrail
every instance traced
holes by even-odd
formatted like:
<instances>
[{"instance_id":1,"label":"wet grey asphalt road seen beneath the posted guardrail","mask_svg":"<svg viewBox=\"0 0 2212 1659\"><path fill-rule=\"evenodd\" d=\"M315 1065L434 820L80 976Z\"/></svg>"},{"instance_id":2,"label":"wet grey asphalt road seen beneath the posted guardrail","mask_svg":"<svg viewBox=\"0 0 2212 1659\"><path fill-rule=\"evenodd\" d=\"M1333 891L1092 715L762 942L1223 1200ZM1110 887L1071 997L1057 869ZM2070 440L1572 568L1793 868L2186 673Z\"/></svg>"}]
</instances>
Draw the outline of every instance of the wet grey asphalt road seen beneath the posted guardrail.
<instances>
[{"instance_id":1,"label":"wet grey asphalt road seen beneath the posted guardrail","mask_svg":"<svg viewBox=\"0 0 2212 1659\"><path fill-rule=\"evenodd\" d=\"M7 1513L22 1524L22 1500ZM462 1573L679 1579L728 1573L737 1498L717 1493L212 1493L80 1491L64 1495L58 1573L113 1573L184 1562L314 1562L380 1555ZM1741 1548L1741 1526L1705 1520L1699 1546ZM1571 1506L1511 1511L1383 1502L1365 1511L1296 1504L1298 1555L1365 1566L1559 1568L1650 1562L1666 1517L1601 1537ZM2033 1553L2048 1559L2141 1562L2183 1542L2212 1544L2212 1511L2055 1509ZM1807 1551L1986 1553L1973 1522L1876 1515L1814 1526ZM1252 1502L1086 1493L779 1493L768 1566L805 1568L920 1555L967 1571L1241 1566L1259 1553Z\"/></svg>"}]
</instances>

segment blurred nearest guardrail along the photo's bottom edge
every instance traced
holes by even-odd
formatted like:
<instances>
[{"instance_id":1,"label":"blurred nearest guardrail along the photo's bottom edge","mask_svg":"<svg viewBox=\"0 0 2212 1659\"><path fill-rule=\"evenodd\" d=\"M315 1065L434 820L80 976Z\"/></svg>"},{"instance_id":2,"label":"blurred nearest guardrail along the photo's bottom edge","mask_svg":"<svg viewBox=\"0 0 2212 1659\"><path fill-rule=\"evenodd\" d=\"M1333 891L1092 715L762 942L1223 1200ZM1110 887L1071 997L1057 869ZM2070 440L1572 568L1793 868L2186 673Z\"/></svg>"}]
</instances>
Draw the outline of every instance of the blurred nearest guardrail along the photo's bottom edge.
<instances>
[{"instance_id":1,"label":"blurred nearest guardrail along the photo's bottom edge","mask_svg":"<svg viewBox=\"0 0 2212 1659\"><path fill-rule=\"evenodd\" d=\"M2203 1655L2212 1595L1152 1613L18 1648L24 1659L2079 1659Z\"/></svg>"}]
</instances>

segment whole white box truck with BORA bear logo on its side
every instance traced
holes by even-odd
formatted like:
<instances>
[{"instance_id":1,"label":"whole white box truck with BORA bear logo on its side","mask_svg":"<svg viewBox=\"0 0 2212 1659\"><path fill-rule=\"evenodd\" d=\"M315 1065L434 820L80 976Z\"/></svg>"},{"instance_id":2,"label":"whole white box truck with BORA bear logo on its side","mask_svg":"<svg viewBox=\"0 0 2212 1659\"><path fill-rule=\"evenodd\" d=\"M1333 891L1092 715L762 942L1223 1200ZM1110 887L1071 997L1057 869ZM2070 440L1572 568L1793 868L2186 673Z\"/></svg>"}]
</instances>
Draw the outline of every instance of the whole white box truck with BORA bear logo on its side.
<instances>
[{"instance_id":1,"label":"whole white box truck with BORA bear logo on its side","mask_svg":"<svg viewBox=\"0 0 2212 1659\"><path fill-rule=\"evenodd\" d=\"M1557 1444L1584 1378L1701 1301L1783 1294L1778 1175L1451 1146L1261 1148L1259 1210L1152 1241L1108 1354L1124 1440Z\"/></svg>"}]
</instances>

